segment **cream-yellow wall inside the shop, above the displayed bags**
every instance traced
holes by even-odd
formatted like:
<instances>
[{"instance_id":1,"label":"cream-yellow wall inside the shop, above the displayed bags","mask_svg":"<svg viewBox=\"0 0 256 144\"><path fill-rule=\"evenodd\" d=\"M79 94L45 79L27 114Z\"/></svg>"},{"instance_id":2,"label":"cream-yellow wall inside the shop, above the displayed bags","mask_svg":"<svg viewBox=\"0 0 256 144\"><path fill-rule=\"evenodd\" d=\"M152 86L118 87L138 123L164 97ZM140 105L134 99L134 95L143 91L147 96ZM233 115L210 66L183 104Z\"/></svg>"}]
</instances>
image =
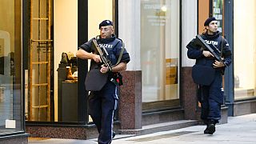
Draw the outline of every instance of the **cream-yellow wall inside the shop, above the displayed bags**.
<instances>
[{"instance_id":1,"label":"cream-yellow wall inside the shop, above the displayed bags","mask_svg":"<svg viewBox=\"0 0 256 144\"><path fill-rule=\"evenodd\" d=\"M78 50L78 0L54 0L54 108L58 118L58 63L62 52Z\"/></svg>"}]
</instances>

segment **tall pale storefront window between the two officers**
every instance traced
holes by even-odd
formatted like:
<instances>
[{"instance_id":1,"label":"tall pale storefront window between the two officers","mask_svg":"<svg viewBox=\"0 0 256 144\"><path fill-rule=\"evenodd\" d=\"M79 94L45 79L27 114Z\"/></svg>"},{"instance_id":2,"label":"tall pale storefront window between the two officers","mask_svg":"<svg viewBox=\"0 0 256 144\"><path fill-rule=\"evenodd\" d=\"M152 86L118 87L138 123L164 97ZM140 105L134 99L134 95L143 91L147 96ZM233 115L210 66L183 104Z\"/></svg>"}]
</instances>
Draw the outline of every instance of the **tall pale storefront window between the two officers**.
<instances>
[{"instance_id":1,"label":"tall pale storefront window between the two officers","mask_svg":"<svg viewBox=\"0 0 256 144\"><path fill-rule=\"evenodd\" d=\"M141 0L142 102L179 98L179 3Z\"/></svg>"}]
</instances>

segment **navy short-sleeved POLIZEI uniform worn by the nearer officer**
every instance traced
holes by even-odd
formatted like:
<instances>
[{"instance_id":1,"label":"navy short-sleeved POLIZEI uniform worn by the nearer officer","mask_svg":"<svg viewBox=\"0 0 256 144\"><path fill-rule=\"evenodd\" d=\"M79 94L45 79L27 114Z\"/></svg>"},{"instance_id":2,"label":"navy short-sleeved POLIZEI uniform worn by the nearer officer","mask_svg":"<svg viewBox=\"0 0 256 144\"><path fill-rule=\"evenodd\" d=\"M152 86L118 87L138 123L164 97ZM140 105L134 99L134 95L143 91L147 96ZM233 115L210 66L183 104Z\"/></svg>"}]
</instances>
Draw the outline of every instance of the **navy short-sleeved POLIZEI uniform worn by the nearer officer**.
<instances>
[{"instance_id":1,"label":"navy short-sleeved POLIZEI uniform worn by the nearer officer","mask_svg":"<svg viewBox=\"0 0 256 144\"><path fill-rule=\"evenodd\" d=\"M98 38L97 42L102 51L106 50L108 54L106 58L110 59L113 65L116 64L120 51L122 50L122 41L115 38L113 34L111 38ZM97 51L92 47L92 39L84 43L80 48L89 53ZM126 50L124 50L122 54L121 62L130 62L130 56ZM100 65L92 60L90 67L94 66ZM110 143L114 134L113 121L114 110L116 110L118 106L118 86L114 82L110 82L112 77L113 73L110 72L109 80L106 82L105 86L103 86L102 90L90 91L88 97L89 114L97 126L99 133L98 143Z\"/></svg>"}]
</instances>

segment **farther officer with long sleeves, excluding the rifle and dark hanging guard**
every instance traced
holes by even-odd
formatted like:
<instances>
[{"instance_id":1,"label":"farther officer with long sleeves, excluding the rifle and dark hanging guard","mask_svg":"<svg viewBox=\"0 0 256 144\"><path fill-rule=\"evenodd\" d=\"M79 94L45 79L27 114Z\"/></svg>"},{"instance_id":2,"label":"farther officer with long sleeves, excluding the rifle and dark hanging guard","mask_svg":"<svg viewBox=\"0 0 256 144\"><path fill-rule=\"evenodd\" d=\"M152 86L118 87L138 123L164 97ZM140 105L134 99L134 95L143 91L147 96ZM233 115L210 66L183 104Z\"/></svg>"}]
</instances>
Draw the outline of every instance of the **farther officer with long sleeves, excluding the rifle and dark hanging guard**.
<instances>
[{"instance_id":1,"label":"farther officer with long sleeves, excluding the rifle and dark hanging guard","mask_svg":"<svg viewBox=\"0 0 256 144\"><path fill-rule=\"evenodd\" d=\"M218 31L216 18L207 18L204 26L206 31L201 35L202 39L213 50L214 46L217 47L218 50L214 51L222 55L223 61L218 62L209 50L203 50L202 47L196 45L194 39L186 48L188 49L188 58L196 59L196 64L212 66L215 69L214 81L210 83L210 86L198 85L198 101L202 104L201 118L206 124L204 134L214 134L215 124L221 119L221 105L223 104L222 74L225 67L230 66L231 51L228 42Z\"/></svg>"}]
</instances>

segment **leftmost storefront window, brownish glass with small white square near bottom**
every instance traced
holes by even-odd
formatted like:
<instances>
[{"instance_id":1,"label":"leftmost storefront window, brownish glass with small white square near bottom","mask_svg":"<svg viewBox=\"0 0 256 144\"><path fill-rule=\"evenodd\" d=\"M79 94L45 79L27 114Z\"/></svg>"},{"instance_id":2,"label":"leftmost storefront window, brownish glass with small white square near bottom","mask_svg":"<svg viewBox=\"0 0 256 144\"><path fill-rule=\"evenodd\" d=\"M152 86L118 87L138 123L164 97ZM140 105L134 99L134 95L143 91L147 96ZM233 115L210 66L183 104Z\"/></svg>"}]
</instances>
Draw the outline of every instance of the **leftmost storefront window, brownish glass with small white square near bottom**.
<instances>
[{"instance_id":1,"label":"leftmost storefront window, brownish glass with small white square near bottom","mask_svg":"<svg viewBox=\"0 0 256 144\"><path fill-rule=\"evenodd\" d=\"M0 1L0 136L23 130L21 2Z\"/></svg>"}]
</instances>

